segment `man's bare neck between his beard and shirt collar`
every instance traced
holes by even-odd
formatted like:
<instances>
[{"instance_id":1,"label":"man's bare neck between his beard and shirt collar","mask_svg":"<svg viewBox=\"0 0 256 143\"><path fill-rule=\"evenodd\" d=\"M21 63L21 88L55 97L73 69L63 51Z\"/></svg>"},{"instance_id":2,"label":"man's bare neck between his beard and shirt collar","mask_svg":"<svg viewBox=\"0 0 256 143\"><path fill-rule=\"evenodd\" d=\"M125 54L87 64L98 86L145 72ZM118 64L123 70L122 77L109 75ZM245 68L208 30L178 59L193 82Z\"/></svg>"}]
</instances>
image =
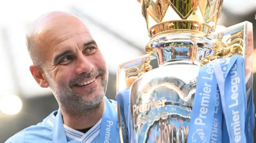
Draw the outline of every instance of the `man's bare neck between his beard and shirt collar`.
<instances>
[{"instance_id":1,"label":"man's bare neck between his beard and shirt collar","mask_svg":"<svg viewBox=\"0 0 256 143\"><path fill-rule=\"evenodd\" d=\"M102 118L103 111L104 99L102 102L100 102L97 108L87 110L86 112L81 113L82 115L79 116L68 114L63 110L61 112L65 125L72 129L86 129L94 126Z\"/></svg>"}]
</instances>

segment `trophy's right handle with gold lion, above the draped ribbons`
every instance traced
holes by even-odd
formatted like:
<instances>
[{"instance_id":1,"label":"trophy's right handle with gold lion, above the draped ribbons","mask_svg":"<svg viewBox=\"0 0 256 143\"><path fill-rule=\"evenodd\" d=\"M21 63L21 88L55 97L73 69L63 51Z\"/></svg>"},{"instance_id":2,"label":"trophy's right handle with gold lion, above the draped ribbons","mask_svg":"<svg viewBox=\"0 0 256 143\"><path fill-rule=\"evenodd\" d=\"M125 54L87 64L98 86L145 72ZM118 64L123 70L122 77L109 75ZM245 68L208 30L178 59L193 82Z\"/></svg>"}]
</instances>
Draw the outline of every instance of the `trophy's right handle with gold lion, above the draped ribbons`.
<instances>
[{"instance_id":1,"label":"trophy's right handle with gold lion, above the draped ribbons","mask_svg":"<svg viewBox=\"0 0 256 143\"><path fill-rule=\"evenodd\" d=\"M223 36L230 37L223 41ZM201 65L216 59L231 57L235 54L240 54L244 58L245 66L245 81L246 81L246 98L249 101L249 97L252 93L252 79L253 79L253 29L252 23L242 22L240 24L232 25L225 28L220 32L213 32L207 37L210 40L216 40L212 45L214 51L213 55L206 56ZM228 42L230 41L230 42Z\"/></svg>"}]
</instances>

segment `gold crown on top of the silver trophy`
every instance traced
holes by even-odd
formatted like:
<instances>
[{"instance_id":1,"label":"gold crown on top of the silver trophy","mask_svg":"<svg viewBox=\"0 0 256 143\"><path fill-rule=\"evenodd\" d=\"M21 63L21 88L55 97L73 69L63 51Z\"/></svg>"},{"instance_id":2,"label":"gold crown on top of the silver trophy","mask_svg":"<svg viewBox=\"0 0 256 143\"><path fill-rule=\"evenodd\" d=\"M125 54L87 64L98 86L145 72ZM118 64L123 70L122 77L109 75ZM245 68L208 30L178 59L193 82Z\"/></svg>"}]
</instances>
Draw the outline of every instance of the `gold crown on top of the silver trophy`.
<instances>
[{"instance_id":1,"label":"gold crown on top of the silver trophy","mask_svg":"<svg viewBox=\"0 0 256 143\"><path fill-rule=\"evenodd\" d=\"M173 32L212 33L223 0L138 0L146 19L148 35Z\"/></svg>"}]
</instances>

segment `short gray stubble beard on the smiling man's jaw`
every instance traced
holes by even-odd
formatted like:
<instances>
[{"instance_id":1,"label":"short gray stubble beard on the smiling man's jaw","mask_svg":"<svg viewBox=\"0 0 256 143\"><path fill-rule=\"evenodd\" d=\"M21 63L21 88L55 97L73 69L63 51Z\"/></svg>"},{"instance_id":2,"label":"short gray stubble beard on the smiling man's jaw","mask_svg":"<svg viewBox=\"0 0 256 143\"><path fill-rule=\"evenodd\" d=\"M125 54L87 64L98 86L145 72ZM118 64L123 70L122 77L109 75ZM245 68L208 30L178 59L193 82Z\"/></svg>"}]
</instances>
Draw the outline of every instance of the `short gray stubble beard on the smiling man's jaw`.
<instances>
[{"instance_id":1,"label":"short gray stubble beard on the smiling man's jaw","mask_svg":"<svg viewBox=\"0 0 256 143\"><path fill-rule=\"evenodd\" d=\"M96 86L88 89L86 92L92 96L89 97L90 99L88 99L88 97L74 92L68 85L64 84L64 82L56 84L52 81L49 74L46 74L46 76L60 108L74 118L79 118L80 116L89 116L92 112L95 112L99 108L100 103L104 98L108 84L108 73L102 71L102 75L98 76L98 78L101 77L102 82L100 86L102 91L100 92L100 95L96 95L93 93L95 90L97 90Z\"/></svg>"}]
</instances>

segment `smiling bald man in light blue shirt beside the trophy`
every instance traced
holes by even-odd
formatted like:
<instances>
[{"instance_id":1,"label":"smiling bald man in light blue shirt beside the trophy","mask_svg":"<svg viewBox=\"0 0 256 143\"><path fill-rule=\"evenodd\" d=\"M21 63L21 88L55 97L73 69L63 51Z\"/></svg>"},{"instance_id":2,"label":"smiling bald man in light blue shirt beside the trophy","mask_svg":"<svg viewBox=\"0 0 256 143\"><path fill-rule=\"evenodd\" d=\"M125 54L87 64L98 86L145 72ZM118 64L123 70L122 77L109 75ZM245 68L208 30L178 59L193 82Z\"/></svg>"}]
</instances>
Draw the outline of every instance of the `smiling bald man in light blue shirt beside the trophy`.
<instances>
[{"instance_id":1,"label":"smiling bald man in light blue shirt beside the trophy","mask_svg":"<svg viewBox=\"0 0 256 143\"><path fill-rule=\"evenodd\" d=\"M84 22L73 14L40 16L26 37L30 72L59 105L6 143L118 143L116 102L106 98L106 61ZM46 105L47 106L47 105Z\"/></svg>"}]
</instances>

